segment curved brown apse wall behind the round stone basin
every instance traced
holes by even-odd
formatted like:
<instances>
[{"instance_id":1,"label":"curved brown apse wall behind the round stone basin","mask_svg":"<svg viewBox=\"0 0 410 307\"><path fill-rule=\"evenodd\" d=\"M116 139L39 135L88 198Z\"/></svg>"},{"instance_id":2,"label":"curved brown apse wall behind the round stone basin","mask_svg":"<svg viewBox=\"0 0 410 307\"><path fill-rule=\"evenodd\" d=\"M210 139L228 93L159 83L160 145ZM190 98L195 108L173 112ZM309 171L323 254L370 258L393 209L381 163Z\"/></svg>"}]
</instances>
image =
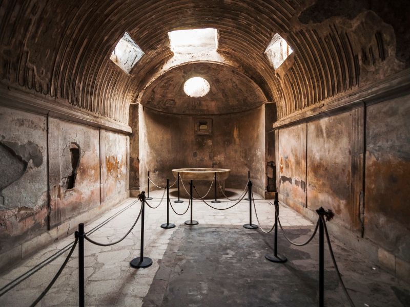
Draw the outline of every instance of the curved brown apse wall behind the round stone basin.
<instances>
[{"instance_id":1,"label":"curved brown apse wall behind the round stone basin","mask_svg":"<svg viewBox=\"0 0 410 307\"><path fill-rule=\"evenodd\" d=\"M212 120L212 134L195 134L196 119ZM173 168L229 168L226 187L244 188L248 170L254 191L263 194L266 185L264 108L218 116L181 116L139 110L140 185L152 180L166 185L174 182ZM151 185L153 189L153 187ZM151 188L150 187L150 188Z\"/></svg>"}]
</instances>

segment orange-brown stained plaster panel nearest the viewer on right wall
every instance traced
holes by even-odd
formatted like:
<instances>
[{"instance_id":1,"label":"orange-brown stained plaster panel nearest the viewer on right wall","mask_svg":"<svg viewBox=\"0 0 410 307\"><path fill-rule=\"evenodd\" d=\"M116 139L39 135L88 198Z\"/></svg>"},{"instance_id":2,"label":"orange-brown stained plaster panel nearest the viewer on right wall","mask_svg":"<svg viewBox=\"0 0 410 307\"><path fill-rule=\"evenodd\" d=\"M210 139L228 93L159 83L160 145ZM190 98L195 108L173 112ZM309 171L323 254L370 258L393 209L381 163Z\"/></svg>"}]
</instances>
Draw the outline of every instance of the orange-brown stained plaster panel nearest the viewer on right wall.
<instances>
[{"instance_id":1,"label":"orange-brown stained plaster panel nearest the viewer on right wall","mask_svg":"<svg viewBox=\"0 0 410 307\"><path fill-rule=\"evenodd\" d=\"M401 271L410 262L409 119L410 96L367 107L364 236L397 256L388 266Z\"/></svg>"}]
</instances>

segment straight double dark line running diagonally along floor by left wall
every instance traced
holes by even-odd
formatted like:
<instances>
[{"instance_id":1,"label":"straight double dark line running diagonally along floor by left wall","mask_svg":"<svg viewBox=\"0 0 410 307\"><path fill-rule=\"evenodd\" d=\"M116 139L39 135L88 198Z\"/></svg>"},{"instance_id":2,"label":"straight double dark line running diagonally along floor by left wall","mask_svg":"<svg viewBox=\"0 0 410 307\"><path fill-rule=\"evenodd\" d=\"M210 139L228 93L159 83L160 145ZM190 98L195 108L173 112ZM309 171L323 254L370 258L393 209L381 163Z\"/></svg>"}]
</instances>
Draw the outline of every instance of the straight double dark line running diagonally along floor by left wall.
<instances>
[{"instance_id":1,"label":"straight double dark line running diagonally along floor by left wall","mask_svg":"<svg viewBox=\"0 0 410 307\"><path fill-rule=\"evenodd\" d=\"M87 232L87 234L92 234L95 231L97 231L98 229L100 229L101 227L103 227L104 225L108 224L110 221L112 221L116 216L118 216L119 214L121 214L122 212L124 212L125 210L129 209L132 205L134 205L138 200L133 201L131 204L129 204L127 207L125 207L124 209L121 209L120 211L118 211L117 213L113 214L112 216L110 216L109 218L107 218L107 220L101 222L100 224L98 224L97 226L95 226L94 228L92 228L90 231ZM21 274L20 276L18 276L17 278L15 278L14 280L10 281L9 283L7 283L5 286L3 286L0 291L0 297L3 296L4 294L6 294L7 292L9 292L10 290L12 290L14 287L18 286L20 283L22 283L23 281L25 281L27 278L31 277L32 275L34 275L36 272L38 272L39 270L43 269L45 266L47 266L48 264L50 264L51 262L53 262L55 259L57 259L59 256L61 256L62 254L64 254L65 252L67 252L74 244L75 241L72 241L70 244L66 245L65 247L63 247L62 249L60 249L59 251L55 252L54 254L50 255L48 258L46 258L45 260L39 262L39 264L35 265L33 268L29 269L28 271L26 271L25 273ZM6 289L6 290L5 290Z\"/></svg>"}]
</instances>

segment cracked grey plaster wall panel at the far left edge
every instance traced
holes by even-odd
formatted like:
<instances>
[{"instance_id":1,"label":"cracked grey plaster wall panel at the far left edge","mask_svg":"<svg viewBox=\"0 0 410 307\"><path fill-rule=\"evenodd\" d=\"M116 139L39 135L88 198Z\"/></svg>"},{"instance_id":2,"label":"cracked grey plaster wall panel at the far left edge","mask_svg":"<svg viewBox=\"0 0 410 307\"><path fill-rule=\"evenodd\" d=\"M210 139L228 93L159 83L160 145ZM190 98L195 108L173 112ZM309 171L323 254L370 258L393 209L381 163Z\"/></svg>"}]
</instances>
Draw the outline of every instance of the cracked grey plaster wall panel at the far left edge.
<instances>
[{"instance_id":1,"label":"cracked grey plaster wall panel at the far left edge","mask_svg":"<svg viewBox=\"0 0 410 307\"><path fill-rule=\"evenodd\" d=\"M0 253L47 228L46 117L0 106Z\"/></svg>"}]
</instances>

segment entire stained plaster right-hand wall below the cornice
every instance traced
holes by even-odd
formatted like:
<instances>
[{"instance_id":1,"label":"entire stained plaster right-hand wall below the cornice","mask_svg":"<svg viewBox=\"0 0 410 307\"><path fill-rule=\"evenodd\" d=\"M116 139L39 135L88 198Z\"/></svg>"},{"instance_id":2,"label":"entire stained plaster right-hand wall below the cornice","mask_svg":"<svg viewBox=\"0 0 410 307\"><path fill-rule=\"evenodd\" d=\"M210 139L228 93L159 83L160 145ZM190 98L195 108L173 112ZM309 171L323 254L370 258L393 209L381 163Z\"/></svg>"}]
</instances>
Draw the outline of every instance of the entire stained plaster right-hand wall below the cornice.
<instances>
[{"instance_id":1,"label":"entire stained plaster right-hand wall below the cornice","mask_svg":"<svg viewBox=\"0 0 410 307\"><path fill-rule=\"evenodd\" d=\"M281 128L279 199L312 221L332 209L333 235L410 276L409 96Z\"/></svg>"}]
</instances>

